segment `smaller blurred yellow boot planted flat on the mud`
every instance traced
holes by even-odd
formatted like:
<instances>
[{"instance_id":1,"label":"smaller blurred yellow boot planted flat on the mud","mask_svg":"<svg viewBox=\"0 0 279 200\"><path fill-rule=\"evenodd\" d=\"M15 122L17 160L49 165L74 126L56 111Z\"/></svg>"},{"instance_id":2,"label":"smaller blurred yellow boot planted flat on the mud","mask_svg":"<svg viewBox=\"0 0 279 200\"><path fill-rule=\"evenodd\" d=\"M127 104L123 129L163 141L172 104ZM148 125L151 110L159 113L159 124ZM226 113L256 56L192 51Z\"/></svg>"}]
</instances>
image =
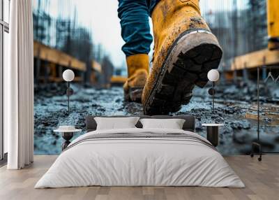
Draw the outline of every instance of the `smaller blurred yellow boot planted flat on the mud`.
<instances>
[{"instance_id":1,"label":"smaller blurred yellow boot planted flat on the mud","mask_svg":"<svg viewBox=\"0 0 279 200\"><path fill-rule=\"evenodd\" d=\"M142 102L142 90L149 74L149 56L146 54L130 55L126 62L128 80L123 85L124 99Z\"/></svg>"}]
</instances>

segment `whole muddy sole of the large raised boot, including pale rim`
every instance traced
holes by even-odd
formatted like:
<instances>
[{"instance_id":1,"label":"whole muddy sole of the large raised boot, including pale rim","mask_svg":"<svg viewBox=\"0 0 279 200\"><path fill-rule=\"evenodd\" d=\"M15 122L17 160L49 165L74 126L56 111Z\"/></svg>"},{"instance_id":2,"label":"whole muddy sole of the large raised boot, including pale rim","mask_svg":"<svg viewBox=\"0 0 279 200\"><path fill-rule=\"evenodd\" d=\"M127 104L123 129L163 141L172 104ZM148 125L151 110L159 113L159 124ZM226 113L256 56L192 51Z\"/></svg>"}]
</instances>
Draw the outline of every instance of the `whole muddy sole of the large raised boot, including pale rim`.
<instances>
[{"instance_id":1,"label":"whole muddy sole of the large raised boot, including pale rim","mask_svg":"<svg viewBox=\"0 0 279 200\"><path fill-rule=\"evenodd\" d=\"M216 36L208 31L186 31L174 41L156 77L144 114L169 114L190 102L195 85L204 87L207 73L218 69L222 49Z\"/></svg>"}]
</instances>

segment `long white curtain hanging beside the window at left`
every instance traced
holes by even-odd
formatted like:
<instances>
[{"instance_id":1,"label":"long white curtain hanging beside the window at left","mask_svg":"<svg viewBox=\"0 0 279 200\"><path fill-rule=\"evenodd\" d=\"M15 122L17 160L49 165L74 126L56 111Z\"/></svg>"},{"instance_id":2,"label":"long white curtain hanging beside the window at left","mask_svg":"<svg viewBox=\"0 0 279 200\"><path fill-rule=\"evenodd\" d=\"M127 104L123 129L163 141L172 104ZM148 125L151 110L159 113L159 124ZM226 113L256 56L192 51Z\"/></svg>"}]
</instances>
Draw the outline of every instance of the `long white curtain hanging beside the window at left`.
<instances>
[{"instance_id":1,"label":"long white curtain hanging beside the window at left","mask_svg":"<svg viewBox=\"0 0 279 200\"><path fill-rule=\"evenodd\" d=\"M33 162L33 19L31 0L10 1L9 64L4 69L7 169Z\"/></svg>"}]
</instances>

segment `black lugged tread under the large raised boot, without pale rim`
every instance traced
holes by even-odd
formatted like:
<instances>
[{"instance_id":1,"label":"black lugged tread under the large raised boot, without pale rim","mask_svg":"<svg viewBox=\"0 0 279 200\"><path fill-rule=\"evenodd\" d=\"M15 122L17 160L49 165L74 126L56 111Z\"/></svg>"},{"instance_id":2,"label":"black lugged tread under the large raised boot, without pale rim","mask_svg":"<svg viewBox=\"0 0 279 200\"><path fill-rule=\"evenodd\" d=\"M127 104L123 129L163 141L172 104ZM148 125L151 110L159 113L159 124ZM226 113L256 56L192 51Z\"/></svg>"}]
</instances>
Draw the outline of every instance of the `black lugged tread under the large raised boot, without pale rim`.
<instances>
[{"instance_id":1,"label":"black lugged tread under the large raised boot, without pale rim","mask_svg":"<svg viewBox=\"0 0 279 200\"><path fill-rule=\"evenodd\" d=\"M188 52L180 52L176 62L160 74L160 87L156 88L144 113L169 114L180 110L181 105L190 102L195 85L204 87L208 83L207 73L211 69L218 69L221 58L222 50L210 43L198 45ZM168 92L168 88L172 92Z\"/></svg>"}]
</instances>

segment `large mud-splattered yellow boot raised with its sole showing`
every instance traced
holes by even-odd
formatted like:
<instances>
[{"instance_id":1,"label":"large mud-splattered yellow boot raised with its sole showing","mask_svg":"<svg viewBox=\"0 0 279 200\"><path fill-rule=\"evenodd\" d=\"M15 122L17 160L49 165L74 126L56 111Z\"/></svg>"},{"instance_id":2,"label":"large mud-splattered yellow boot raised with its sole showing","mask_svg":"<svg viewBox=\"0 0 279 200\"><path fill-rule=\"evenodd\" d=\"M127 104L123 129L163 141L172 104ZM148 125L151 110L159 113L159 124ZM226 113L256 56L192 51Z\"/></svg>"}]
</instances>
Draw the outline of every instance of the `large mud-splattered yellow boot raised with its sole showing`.
<instances>
[{"instance_id":1,"label":"large mud-splattered yellow boot raised with its sole showing","mask_svg":"<svg viewBox=\"0 0 279 200\"><path fill-rule=\"evenodd\" d=\"M145 114L168 114L190 102L195 85L206 85L223 53L200 15L199 0L161 0L151 17L155 47L142 104Z\"/></svg>"}]
</instances>

